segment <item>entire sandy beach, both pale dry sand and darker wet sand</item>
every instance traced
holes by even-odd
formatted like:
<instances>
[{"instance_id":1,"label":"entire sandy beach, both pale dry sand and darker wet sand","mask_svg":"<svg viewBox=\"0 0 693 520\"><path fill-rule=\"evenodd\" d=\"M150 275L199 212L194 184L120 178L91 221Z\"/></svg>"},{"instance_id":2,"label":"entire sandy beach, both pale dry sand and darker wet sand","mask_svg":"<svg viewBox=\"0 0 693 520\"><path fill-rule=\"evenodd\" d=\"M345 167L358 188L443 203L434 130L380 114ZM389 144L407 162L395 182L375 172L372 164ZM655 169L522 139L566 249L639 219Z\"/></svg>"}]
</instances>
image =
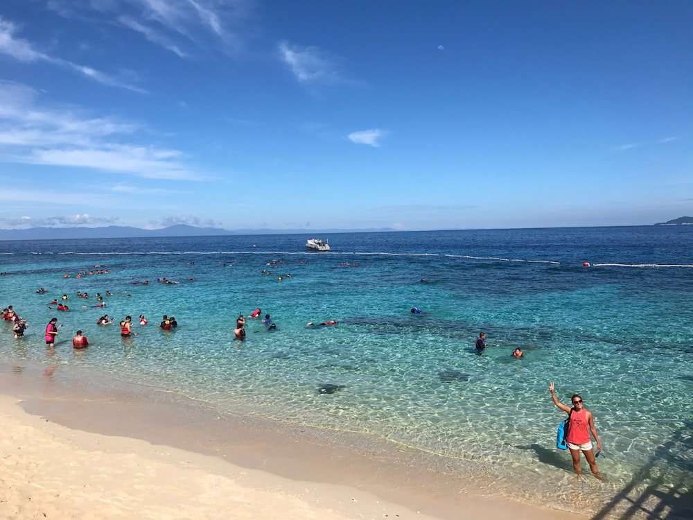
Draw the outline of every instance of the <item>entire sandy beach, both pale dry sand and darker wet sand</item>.
<instances>
[{"instance_id":1,"label":"entire sandy beach, both pale dry sand and darker wet sand","mask_svg":"<svg viewBox=\"0 0 693 520\"><path fill-rule=\"evenodd\" d=\"M311 442L301 450L291 439L276 442L271 432L253 435L254 425L237 425L233 435L227 432L234 441L220 447L214 432L193 435L199 423L188 413L185 423L193 426L168 424L171 410L161 403L142 408L103 396L67 399L60 385L40 388L44 382L36 385L26 374L0 377L3 518L583 518L479 499L468 489L451 492L456 483L441 485L426 469L401 468L388 479L394 470L385 457L358 460ZM146 417L160 428L143 426Z\"/></svg>"}]
</instances>

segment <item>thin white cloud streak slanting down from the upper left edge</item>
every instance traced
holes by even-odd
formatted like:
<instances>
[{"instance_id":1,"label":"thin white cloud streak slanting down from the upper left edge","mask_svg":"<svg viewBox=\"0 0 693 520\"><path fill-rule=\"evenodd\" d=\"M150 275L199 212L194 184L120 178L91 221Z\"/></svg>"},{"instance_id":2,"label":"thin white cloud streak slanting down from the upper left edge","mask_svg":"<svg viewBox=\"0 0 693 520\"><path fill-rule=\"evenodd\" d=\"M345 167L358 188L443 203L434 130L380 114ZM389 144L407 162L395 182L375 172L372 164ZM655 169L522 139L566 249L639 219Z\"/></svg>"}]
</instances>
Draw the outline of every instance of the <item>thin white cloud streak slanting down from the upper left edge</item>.
<instances>
[{"instance_id":1,"label":"thin white cloud streak slanting down from the upper left edge","mask_svg":"<svg viewBox=\"0 0 693 520\"><path fill-rule=\"evenodd\" d=\"M0 17L0 54L10 56L10 58L14 58L15 60L25 63L50 63L57 67L77 71L78 73L82 74L82 76L86 76L91 80L101 83L102 85L128 89L132 90L133 92L139 92L140 94L147 93L145 89L130 85L129 83L123 83L122 81L109 76L107 73L98 71L92 67L87 67L85 65L37 51L34 46L28 42L28 40L16 37L15 33L17 33L17 26L11 21Z\"/></svg>"}]
</instances>

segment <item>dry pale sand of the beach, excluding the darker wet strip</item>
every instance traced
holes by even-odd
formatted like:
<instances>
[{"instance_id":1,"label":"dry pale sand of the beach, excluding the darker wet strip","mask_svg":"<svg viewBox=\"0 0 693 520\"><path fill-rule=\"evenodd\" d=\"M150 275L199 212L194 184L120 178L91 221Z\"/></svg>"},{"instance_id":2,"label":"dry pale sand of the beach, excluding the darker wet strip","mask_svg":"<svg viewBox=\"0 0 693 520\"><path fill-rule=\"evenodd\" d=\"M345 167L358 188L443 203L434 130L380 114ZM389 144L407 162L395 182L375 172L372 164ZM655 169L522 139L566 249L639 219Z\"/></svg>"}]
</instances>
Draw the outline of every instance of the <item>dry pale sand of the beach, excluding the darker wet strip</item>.
<instances>
[{"instance_id":1,"label":"dry pale sand of the beach, excluding the darker wet strip","mask_svg":"<svg viewBox=\"0 0 693 520\"><path fill-rule=\"evenodd\" d=\"M75 431L0 398L0 517L428 519L356 489L304 483L142 440Z\"/></svg>"}]
</instances>

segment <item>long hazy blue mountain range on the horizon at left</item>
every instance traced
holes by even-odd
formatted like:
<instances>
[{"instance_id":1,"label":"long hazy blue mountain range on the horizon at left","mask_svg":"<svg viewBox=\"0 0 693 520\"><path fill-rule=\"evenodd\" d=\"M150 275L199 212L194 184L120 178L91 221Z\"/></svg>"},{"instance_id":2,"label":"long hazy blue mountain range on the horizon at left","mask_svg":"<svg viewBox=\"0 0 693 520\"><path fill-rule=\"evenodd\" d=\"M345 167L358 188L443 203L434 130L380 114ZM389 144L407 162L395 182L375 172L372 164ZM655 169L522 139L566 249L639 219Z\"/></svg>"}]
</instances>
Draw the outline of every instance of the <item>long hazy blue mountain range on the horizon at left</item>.
<instances>
[{"instance_id":1,"label":"long hazy blue mountain range on the horizon at left","mask_svg":"<svg viewBox=\"0 0 693 520\"><path fill-rule=\"evenodd\" d=\"M141 229L130 226L104 227L30 227L29 229L0 229L0 240L57 240L57 239L137 239L163 236L222 236L261 234L320 234L349 232L394 231L380 229L220 229L218 227L195 227L178 224L161 229Z\"/></svg>"}]
</instances>

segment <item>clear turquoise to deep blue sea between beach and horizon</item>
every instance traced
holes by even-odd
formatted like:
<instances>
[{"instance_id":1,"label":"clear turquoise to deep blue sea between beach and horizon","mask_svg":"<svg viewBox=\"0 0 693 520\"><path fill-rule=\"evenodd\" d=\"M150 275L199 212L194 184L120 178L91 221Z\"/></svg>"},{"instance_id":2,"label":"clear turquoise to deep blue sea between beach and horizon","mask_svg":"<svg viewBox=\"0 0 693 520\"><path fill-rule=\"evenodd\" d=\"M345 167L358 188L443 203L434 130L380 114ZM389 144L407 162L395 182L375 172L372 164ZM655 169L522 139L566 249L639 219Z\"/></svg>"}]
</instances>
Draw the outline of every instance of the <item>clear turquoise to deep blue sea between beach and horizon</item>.
<instances>
[{"instance_id":1,"label":"clear turquoise to deep blue sea between beach and horizon","mask_svg":"<svg viewBox=\"0 0 693 520\"><path fill-rule=\"evenodd\" d=\"M608 483L585 479L594 508L628 485L693 491L693 226L315 237L328 253L307 252L308 238L0 242L0 305L30 324L23 340L0 324L3 365L98 373L105 389L144 382L222 413L362 433L486 465L499 482L532 480L545 503L572 479L555 448L565 414L554 381L564 403L579 393L595 414ZM109 273L76 278L97 269ZM46 307L63 294L69 311ZM235 340L236 317L256 307L277 330L248 320ZM114 324L97 327L104 313ZM163 314L175 331L158 329ZM132 340L120 336L125 315ZM43 340L53 316L54 353ZM306 326L326 320L339 324ZM71 347L77 329L85 352ZM489 348L477 355L480 331ZM325 384L340 388L321 393Z\"/></svg>"}]
</instances>

